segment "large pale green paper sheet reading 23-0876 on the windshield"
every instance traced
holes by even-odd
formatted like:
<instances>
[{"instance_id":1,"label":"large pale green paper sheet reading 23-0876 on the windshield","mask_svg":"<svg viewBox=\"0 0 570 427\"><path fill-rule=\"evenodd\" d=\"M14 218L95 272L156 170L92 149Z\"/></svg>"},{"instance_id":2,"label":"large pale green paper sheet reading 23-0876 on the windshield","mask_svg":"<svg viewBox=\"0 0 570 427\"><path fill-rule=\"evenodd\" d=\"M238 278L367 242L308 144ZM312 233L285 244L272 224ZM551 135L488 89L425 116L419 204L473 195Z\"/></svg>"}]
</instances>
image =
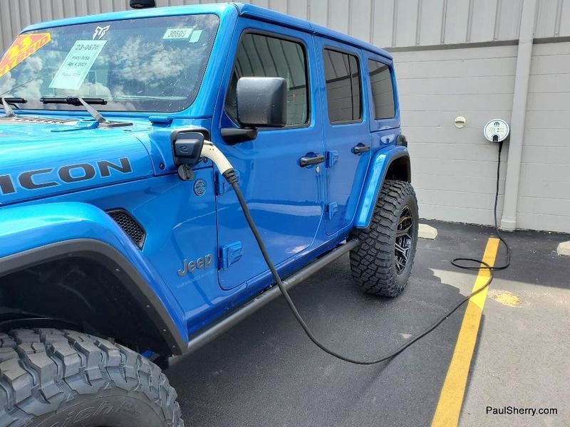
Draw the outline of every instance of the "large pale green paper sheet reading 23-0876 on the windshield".
<instances>
[{"instance_id":1,"label":"large pale green paper sheet reading 23-0876 on the windshield","mask_svg":"<svg viewBox=\"0 0 570 427\"><path fill-rule=\"evenodd\" d=\"M52 89L78 90L103 50L106 40L78 40L49 85Z\"/></svg>"}]
</instances>

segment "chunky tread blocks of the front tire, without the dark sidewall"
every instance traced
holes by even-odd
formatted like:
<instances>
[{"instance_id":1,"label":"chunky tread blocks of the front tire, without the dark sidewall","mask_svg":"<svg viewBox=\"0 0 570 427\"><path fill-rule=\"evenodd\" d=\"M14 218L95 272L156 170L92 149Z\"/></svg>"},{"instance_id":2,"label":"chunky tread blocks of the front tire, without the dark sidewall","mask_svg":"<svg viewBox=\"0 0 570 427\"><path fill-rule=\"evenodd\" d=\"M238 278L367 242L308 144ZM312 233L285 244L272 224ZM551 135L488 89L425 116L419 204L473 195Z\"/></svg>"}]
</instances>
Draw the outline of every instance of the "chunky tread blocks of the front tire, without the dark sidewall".
<instances>
[{"instance_id":1,"label":"chunky tread blocks of the front tire, without the dark sidewall","mask_svg":"<svg viewBox=\"0 0 570 427\"><path fill-rule=\"evenodd\" d=\"M184 427L175 389L159 367L120 344L81 332L38 328L0 334L0 426L28 426L79 394L140 391L168 427Z\"/></svg>"}]
</instances>

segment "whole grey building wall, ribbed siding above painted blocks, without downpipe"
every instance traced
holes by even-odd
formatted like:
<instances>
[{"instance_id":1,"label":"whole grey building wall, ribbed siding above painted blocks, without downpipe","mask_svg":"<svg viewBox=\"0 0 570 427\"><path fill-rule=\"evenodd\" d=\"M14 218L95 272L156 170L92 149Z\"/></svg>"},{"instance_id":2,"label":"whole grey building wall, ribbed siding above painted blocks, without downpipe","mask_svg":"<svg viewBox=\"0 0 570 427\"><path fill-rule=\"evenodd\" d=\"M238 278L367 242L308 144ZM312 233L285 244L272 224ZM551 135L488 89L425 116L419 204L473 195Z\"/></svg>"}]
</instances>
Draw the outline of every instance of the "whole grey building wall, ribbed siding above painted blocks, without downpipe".
<instances>
[{"instance_id":1,"label":"whole grey building wall, ribbed siding above painted blocks, without downpipe","mask_svg":"<svg viewBox=\"0 0 570 427\"><path fill-rule=\"evenodd\" d=\"M497 148L482 126L511 118L523 1L252 2L390 48L420 216L492 224ZM128 0L0 0L0 50L32 22L125 9ZM570 0L538 0L534 22L542 43L532 48L517 226L570 232ZM465 128L453 125L457 115Z\"/></svg>"}]
</instances>

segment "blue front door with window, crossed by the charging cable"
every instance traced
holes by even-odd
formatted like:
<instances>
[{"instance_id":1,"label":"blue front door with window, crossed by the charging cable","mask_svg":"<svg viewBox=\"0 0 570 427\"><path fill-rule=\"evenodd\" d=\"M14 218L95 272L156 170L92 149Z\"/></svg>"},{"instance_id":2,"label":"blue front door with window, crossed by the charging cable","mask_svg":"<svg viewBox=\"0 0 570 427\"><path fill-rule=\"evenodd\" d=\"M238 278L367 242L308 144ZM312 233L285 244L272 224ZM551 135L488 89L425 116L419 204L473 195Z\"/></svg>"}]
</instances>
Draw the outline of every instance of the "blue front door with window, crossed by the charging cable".
<instances>
[{"instance_id":1,"label":"blue front door with window, crossed by the charging cable","mask_svg":"<svg viewBox=\"0 0 570 427\"><path fill-rule=\"evenodd\" d=\"M239 40L227 69L220 127L237 127L237 80L283 77L287 82L287 125L259 130L257 138L228 144L220 130L214 142L239 171L249 209L276 265L299 257L311 246L323 216L323 164L301 166L301 157L324 162L321 117L315 113L316 85L311 34L250 19L238 20ZM309 54L311 53L311 54ZM227 187L227 186L226 186ZM217 197L219 283L231 289L267 270L231 189ZM241 248L241 249L239 249ZM225 252L224 252L225 251ZM228 256L229 254L229 256Z\"/></svg>"}]
</instances>

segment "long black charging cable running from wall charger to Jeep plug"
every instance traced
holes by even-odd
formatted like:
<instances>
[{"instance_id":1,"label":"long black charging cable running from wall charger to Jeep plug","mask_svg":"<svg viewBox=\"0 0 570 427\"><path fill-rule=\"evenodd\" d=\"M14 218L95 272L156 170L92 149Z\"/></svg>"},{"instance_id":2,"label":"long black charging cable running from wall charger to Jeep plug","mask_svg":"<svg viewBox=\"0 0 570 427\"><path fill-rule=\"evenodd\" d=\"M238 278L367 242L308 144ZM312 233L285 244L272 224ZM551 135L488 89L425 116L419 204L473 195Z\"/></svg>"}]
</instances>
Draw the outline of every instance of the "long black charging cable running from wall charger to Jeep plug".
<instances>
[{"instance_id":1,"label":"long black charging cable running from wall charger to Jeep plug","mask_svg":"<svg viewBox=\"0 0 570 427\"><path fill-rule=\"evenodd\" d=\"M487 283L485 283L479 289L472 292L470 295L467 295L467 297L464 297L460 302L457 303L457 305L455 305L455 307L453 307L445 315L440 317L436 322L434 322L426 330L424 330L420 334L416 335L415 337L413 337L412 339L410 339L408 342L401 345L397 349L393 350L393 352L386 354L383 357L380 357L378 359L373 359L373 360L360 360L360 359L353 359L351 357L343 356L342 354L339 354L339 353L337 353L331 349L328 349L328 347L326 347L324 344L319 342L318 339L316 339L313 332L311 332L311 330L309 329L309 326L304 321L303 317L301 317L299 310L297 310L297 307L295 307L293 300L291 300L291 297L289 296L289 292L287 292L287 290L285 289L285 287L283 285L283 282L281 281L281 278L279 277L279 273L277 273L275 265L273 265L271 258L269 258L269 253L267 253L267 250L265 248L265 244L263 243L263 239L259 235L259 231L257 231L257 226L255 226L252 215L249 213L249 209L248 209L246 201L244 199L244 195L242 194L242 190L239 189L239 184L237 184L237 176L234 172L234 169L227 170L226 172L223 173L223 176L228 181L228 183L232 185L232 187L236 193L237 200L239 201L239 205L242 206L242 211L244 212L244 216L245 216L245 219L247 221L247 224L249 225L249 228L251 228L252 233L254 234L255 240L257 241L257 245L259 246L259 249L261 250L261 255L263 255L263 258L264 258L267 266L269 267L269 270L271 270L271 274L273 275L273 278L274 278L275 282L277 283L279 290L281 290L281 293L283 294L283 296L287 302L287 305L289 305L289 309L291 309L291 312L293 312L293 315L295 316L297 322L299 322L299 325L301 325L301 327L305 331L305 334L307 335L307 337L309 337L309 339L311 339L311 341L318 348L323 350L323 352L326 352L326 353L330 354L331 356L336 357L337 359L341 359L344 362L349 362L349 363L353 363L353 364L369 365L369 364L377 364L380 362L385 362L389 359L392 359L393 357L395 357L396 355L400 354L405 349L410 347L410 345L412 345L414 342L418 341L419 339L425 337L425 335L427 335L430 332L432 332L433 330L435 330L435 328L438 327L444 320L446 320L447 317L450 317L450 315L452 315L452 313L454 313L459 307L461 307L463 304L465 304L465 302L469 301L471 297L477 295L479 292L481 292L482 290L484 290L485 288L487 288L491 284L491 282L493 281L493 271L504 270L505 268L507 268L509 266L509 264L511 262L510 261L511 260L511 250L510 250L507 242L504 241L504 238L501 236L501 233L499 232L499 227L497 226L497 201L499 199L499 176L500 176L500 166L501 166L502 144L503 144L502 142L499 142L499 161L497 164L497 190L495 191L495 196L494 196L494 229L495 229L495 232L497 233L497 236L499 236L500 241L502 241L505 248L507 248L507 261L506 261L506 263L504 263L504 265L500 265L498 267L493 267L492 265L489 265L488 263L484 262L483 260L477 260L475 258L455 258L454 260L452 260L451 263L453 265L455 265L455 267L462 268L464 270L481 270L481 269L489 270L489 279L487 280ZM477 265L465 265L464 264L465 262L476 263Z\"/></svg>"}]
</instances>

